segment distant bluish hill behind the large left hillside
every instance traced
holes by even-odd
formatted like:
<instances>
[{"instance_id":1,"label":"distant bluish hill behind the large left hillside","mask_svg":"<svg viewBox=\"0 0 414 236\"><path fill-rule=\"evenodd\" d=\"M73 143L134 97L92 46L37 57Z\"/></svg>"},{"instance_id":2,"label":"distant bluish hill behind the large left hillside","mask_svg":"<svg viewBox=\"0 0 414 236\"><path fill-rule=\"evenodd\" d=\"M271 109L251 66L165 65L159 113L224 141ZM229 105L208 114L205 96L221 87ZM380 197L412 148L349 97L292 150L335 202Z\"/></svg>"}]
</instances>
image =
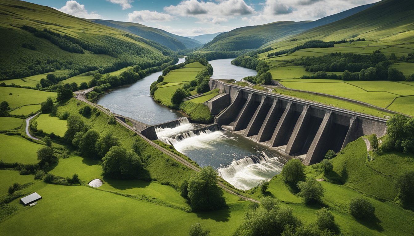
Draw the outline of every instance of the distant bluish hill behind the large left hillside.
<instances>
[{"instance_id":1,"label":"distant bluish hill behind the large left hillside","mask_svg":"<svg viewBox=\"0 0 414 236\"><path fill-rule=\"evenodd\" d=\"M148 27L142 24L101 19L93 19L90 21L133 33L137 36L141 36L142 38L153 40L167 46L171 50L195 48L202 45L202 43L196 39L178 36L162 29Z\"/></svg>"}]
</instances>

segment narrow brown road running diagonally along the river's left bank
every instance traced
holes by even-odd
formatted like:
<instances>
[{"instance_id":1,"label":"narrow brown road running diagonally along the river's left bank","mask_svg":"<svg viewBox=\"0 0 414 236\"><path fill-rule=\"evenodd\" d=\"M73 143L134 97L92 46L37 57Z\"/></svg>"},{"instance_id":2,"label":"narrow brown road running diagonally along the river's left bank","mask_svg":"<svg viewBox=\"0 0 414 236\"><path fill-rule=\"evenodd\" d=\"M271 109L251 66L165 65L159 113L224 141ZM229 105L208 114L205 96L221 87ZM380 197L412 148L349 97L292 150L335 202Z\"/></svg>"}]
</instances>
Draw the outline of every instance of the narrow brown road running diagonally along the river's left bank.
<instances>
[{"instance_id":1,"label":"narrow brown road running diagonally along the river's left bank","mask_svg":"<svg viewBox=\"0 0 414 236\"><path fill-rule=\"evenodd\" d=\"M102 112L104 112L105 114L107 114L107 115L111 116L111 115L112 115L112 112L110 112L110 111L106 110L105 108L103 108L103 107L101 107L101 106L99 106L99 105L96 105L95 103L91 103L89 100L87 100L87 99L85 98L85 93L88 93L89 91L92 91L92 90L93 90L93 88L89 88L89 89L87 89L87 90L85 90L85 91L77 91L77 92L75 92L75 94L77 94L77 95L75 96L75 98L76 98L77 100L82 101L82 102L88 103L89 105L91 105L91 106L93 106L93 107L96 107L97 109L101 110L101 111L102 111ZM174 154L174 153L171 153L170 151L166 150L165 148L161 147L160 145L158 145L158 144L154 143L153 141L151 141L151 140L150 140L150 139L148 139L147 137L143 136L140 132L136 131L136 130L135 130L135 129L133 129L131 126L129 126L128 124L124 123L122 120L118 119L117 117L115 117L115 119L116 119L116 121L117 121L119 124L123 125L125 128L129 129L129 130L130 130L130 131L132 131L132 132L137 133L137 135L138 135L138 136L140 136L142 139L144 139L147 143L149 143L149 145L151 145L151 146L153 146L154 148L156 148L156 149L160 150L160 151L161 151L161 152L163 152L164 154L166 154L166 155L168 155L168 156L170 156L170 157L174 158L175 160L177 160L177 161L178 161L178 162L180 162L181 164L185 165L186 167L188 167L188 168L190 168L190 169L193 169L193 170L194 170L194 171L196 171L196 172L200 172L200 169L199 169L199 168L195 167L193 164L191 164L190 162L188 162L187 160L185 160L183 157L180 157L179 155L176 155L176 154ZM244 199L244 200L247 200L247 201L251 201L251 202L258 202L257 200L255 200L255 199L253 199L253 198L248 198L248 197L245 197L245 196L243 196L243 195L240 195L240 194L238 194L238 193L234 192L234 191L233 191L233 190L232 190L229 186L226 186L225 184L223 184L223 183L221 183L221 182L218 182L217 184L218 184L221 188L223 188L223 189L224 189L224 191L226 191L226 192L228 192L228 193L231 193L231 194L234 194L234 195L238 195L240 198L242 198L242 199Z\"/></svg>"}]
</instances>

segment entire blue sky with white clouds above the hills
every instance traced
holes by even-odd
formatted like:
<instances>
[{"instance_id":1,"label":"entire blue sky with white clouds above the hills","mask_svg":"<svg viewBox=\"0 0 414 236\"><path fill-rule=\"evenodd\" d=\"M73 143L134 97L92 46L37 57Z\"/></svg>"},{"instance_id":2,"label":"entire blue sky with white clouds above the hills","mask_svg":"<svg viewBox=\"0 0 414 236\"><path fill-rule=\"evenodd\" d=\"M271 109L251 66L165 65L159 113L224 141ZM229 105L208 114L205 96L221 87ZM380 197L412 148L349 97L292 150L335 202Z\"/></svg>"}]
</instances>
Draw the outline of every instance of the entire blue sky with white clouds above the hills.
<instances>
[{"instance_id":1,"label":"entire blue sky with white clouds above the hills","mask_svg":"<svg viewBox=\"0 0 414 236\"><path fill-rule=\"evenodd\" d=\"M316 20L378 0L29 0L76 17L111 19L183 36L275 21Z\"/></svg>"}]
</instances>

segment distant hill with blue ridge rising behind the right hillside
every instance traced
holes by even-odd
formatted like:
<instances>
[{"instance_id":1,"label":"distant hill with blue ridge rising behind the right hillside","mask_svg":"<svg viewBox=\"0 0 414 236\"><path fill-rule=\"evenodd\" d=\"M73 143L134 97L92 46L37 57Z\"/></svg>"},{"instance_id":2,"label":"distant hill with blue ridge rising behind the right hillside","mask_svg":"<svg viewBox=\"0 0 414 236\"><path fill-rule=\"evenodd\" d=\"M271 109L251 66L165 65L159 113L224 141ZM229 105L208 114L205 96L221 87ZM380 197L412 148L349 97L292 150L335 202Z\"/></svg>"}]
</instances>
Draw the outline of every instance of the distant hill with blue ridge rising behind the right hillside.
<instances>
[{"instance_id":1,"label":"distant hill with blue ridge rising behind the right hillside","mask_svg":"<svg viewBox=\"0 0 414 236\"><path fill-rule=\"evenodd\" d=\"M206 51L236 51L244 49L256 49L262 45L278 39L301 33L308 29L344 19L357 12L361 12L374 4L354 7L331 16L323 17L316 21L278 21L259 26L247 26L233 29L216 36L207 43L202 50Z\"/></svg>"}]
</instances>

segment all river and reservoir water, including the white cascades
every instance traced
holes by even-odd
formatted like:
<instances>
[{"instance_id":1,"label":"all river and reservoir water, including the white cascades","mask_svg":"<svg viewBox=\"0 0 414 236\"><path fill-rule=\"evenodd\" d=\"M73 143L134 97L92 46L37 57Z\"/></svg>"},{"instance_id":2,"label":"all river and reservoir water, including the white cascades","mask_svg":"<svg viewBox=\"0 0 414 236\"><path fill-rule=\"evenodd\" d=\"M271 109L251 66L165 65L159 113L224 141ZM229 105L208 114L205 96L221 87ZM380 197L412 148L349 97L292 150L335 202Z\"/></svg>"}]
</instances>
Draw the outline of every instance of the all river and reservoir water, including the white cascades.
<instances>
[{"instance_id":1,"label":"all river and reservoir water, including the white cascades","mask_svg":"<svg viewBox=\"0 0 414 236\"><path fill-rule=\"evenodd\" d=\"M180 59L181 63L183 59ZM212 60L214 79L240 80L256 75L255 70L231 65L233 59ZM117 88L98 100L112 112L131 117L146 124L171 121L183 114L156 103L149 95L149 86L162 72L156 72L130 86ZM277 152L238 133L206 130L200 135L183 133L199 128L184 119L176 127L157 129L159 139L172 144L176 150L195 160L201 167L212 166L219 175L236 188L253 188L261 181L278 174L286 160Z\"/></svg>"}]
</instances>

